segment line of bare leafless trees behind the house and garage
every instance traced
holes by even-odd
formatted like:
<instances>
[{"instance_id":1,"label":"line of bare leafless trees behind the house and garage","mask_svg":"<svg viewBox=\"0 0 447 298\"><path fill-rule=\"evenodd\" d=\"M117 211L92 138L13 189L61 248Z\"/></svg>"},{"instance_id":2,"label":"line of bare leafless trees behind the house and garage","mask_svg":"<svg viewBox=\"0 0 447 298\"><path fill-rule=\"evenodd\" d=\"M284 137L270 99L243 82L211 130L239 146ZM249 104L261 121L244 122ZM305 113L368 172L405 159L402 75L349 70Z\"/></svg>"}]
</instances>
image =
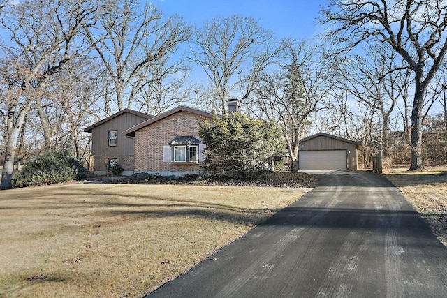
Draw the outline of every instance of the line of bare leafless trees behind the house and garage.
<instances>
[{"instance_id":1,"label":"line of bare leafless trees behind the house and garage","mask_svg":"<svg viewBox=\"0 0 447 298\"><path fill-rule=\"evenodd\" d=\"M188 24L142 0L3 0L0 15L1 188L43 151L88 163L83 128L118 110L226 114L231 98L277 124L291 171L317 131L362 142L365 166L377 151L410 170L447 161L443 2L329 0L312 40L240 15Z\"/></svg>"}]
</instances>

